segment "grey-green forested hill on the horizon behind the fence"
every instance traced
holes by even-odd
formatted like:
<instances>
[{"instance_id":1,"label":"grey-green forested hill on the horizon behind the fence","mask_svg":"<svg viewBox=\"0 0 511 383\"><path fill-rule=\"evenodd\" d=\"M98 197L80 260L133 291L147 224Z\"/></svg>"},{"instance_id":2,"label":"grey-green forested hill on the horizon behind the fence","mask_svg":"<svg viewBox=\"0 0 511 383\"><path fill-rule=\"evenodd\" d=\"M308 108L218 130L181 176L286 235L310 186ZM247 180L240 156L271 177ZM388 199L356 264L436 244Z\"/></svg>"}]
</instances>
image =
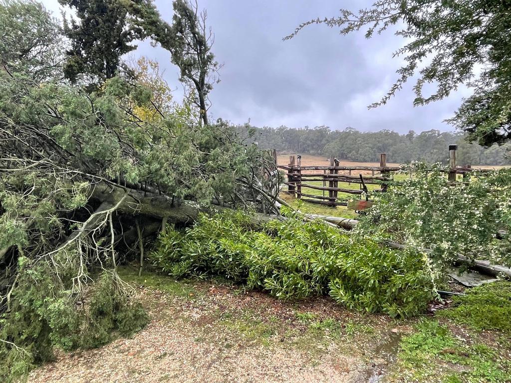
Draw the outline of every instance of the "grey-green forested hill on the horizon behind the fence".
<instances>
[{"instance_id":1,"label":"grey-green forested hill on the horizon behind the fence","mask_svg":"<svg viewBox=\"0 0 511 383\"><path fill-rule=\"evenodd\" d=\"M462 133L429 130L399 134L390 130L359 132L353 128L331 130L316 128L257 128L247 124L237 127L247 142L257 141L264 149L298 154L335 155L339 159L372 162L380 153L387 153L388 161L447 162L448 146L458 145L458 163L471 165L511 164L511 144L483 148L470 144ZM254 133L251 136L251 133Z\"/></svg>"}]
</instances>

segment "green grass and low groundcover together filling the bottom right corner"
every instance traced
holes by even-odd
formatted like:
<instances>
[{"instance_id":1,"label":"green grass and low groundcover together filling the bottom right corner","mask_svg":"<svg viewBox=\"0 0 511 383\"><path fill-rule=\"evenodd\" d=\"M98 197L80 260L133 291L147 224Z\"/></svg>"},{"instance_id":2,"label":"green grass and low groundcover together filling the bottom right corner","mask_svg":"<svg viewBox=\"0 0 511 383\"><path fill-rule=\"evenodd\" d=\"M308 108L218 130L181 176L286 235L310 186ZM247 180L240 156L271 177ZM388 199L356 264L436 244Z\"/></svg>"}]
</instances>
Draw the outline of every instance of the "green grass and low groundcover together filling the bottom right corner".
<instances>
[{"instance_id":1,"label":"green grass and low groundcover together filling the bottom right corner","mask_svg":"<svg viewBox=\"0 0 511 383\"><path fill-rule=\"evenodd\" d=\"M399 378L442 383L511 381L510 282L470 289L465 296L454 297L453 307L440 310L436 317L448 321L440 324L424 318L401 341ZM461 329L462 335L456 337L450 328ZM484 336L484 330L496 332L497 337Z\"/></svg>"}]
</instances>

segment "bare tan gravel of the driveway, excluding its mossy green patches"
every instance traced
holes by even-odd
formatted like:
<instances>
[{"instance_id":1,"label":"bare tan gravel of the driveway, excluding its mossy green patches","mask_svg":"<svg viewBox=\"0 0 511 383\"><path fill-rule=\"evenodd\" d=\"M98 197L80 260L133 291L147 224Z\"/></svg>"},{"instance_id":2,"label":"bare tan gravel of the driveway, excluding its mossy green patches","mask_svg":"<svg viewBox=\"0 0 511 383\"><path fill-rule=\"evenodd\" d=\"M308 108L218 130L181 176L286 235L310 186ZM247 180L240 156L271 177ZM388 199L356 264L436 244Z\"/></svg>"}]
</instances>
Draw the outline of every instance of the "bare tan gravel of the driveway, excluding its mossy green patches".
<instances>
[{"instance_id":1,"label":"bare tan gravel of the driveway, excluding its mossy green patches","mask_svg":"<svg viewBox=\"0 0 511 383\"><path fill-rule=\"evenodd\" d=\"M265 295L238 296L228 289L213 286L200 299L176 298L151 289L143 289L142 299L148 304L153 318L144 330L132 338L117 339L99 349L59 353L54 363L33 371L29 381L378 381L374 376L371 378L374 371L368 368L360 354L342 351L334 343L318 344L320 356L311 357L310 350L276 339L279 334L272 336L269 344L261 344L257 339L247 338L244 333L218 324L222 312L241 312L245 306L263 307L263 311L271 310L282 317L292 312L288 305ZM282 324L288 326L289 319L284 319Z\"/></svg>"}]
</instances>

